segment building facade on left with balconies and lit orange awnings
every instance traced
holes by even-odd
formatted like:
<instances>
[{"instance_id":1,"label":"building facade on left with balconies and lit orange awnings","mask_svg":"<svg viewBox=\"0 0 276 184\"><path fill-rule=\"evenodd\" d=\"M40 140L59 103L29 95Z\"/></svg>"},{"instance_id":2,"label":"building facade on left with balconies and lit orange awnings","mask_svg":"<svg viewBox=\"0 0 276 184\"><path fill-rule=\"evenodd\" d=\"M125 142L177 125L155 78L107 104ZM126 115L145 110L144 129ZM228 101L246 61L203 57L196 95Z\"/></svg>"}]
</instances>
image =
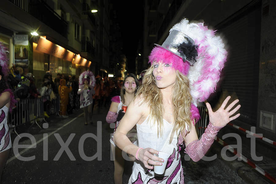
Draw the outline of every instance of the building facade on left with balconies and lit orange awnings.
<instances>
[{"instance_id":1,"label":"building facade on left with balconies and lit orange awnings","mask_svg":"<svg viewBox=\"0 0 276 184\"><path fill-rule=\"evenodd\" d=\"M108 19L108 4L107 0L2 1L0 41L9 48L10 66L27 65L25 74L32 72L36 85L49 70L53 78L57 73L79 76L87 69L103 76L109 64L105 58L109 22L103 18Z\"/></svg>"}]
</instances>

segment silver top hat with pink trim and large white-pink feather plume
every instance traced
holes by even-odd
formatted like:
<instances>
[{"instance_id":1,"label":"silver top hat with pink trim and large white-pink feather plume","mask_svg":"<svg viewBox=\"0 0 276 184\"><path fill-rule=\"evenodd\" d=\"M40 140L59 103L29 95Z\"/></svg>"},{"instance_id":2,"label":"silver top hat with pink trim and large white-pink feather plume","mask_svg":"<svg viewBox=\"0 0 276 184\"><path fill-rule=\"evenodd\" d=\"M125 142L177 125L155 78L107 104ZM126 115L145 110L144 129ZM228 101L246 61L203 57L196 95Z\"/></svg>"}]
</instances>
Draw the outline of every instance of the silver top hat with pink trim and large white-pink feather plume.
<instances>
[{"instance_id":1,"label":"silver top hat with pink trim and large white-pink feather plume","mask_svg":"<svg viewBox=\"0 0 276 184\"><path fill-rule=\"evenodd\" d=\"M154 47L149 55L149 63L170 62L174 69L189 78L192 103L196 106L214 92L226 61L225 45L215 32L203 22L183 19L171 28L166 41Z\"/></svg>"}]
</instances>

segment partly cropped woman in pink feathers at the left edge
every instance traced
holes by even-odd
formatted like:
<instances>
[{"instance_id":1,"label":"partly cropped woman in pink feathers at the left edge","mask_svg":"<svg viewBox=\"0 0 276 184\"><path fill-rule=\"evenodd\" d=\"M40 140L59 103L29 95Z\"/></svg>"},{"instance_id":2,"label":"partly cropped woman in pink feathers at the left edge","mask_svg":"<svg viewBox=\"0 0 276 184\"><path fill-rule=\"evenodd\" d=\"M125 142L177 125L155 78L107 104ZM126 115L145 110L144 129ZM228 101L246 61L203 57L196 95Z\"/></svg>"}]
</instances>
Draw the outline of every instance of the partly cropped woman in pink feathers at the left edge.
<instances>
[{"instance_id":1,"label":"partly cropped woman in pink feathers at the left edge","mask_svg":"<svg viewBox=\"0 0 276 184\"><path fill-rule=\"evenodd\" d=\"M10 148L10 131L8 126L8 113L12 111L16 100L13 92L8 88L8 58L6 57L6 48L0 43L0 183L2 181L2 172L7 162Z\"/></svg>"}]
</instances>

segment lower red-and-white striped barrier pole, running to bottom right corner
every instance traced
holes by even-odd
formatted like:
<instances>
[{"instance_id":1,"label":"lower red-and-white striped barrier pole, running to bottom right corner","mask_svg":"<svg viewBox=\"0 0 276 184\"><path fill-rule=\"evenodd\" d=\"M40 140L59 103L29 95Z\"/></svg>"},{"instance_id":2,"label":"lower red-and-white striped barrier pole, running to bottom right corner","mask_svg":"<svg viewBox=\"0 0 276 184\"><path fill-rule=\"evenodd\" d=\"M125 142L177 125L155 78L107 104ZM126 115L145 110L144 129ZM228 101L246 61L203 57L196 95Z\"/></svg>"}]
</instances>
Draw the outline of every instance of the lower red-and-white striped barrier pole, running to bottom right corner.
<instances>
[{"instance_id":1,"label":"lower red-and-white striped barrier pole, running to bottom right corner","mask_svg":"<svg viewBox=\"0 0 276 184\"><path fill-rule=\"evenodd\" d=\"M229 124L229 123L228 123ZM270 181L276 183L276 179L271 176L270 174L268 174L265 170L263 170L261 167L259 167L258 165L256 165L254 162L252 162L251 160L247 159L245 156L243 156L242 154L238 153L234 148L232 148L231 146L229 146L227 143L225 143L223 140L221 140L220 138L218 138L217 136L215 137L215 140L220 143L222 146L226 146L228 148L229 151L231 151L234 155L237 155L240 159L243 160L243 162L246 162L248 165L250 165L251 167L253 167L255 170L257 170L259 173L261 173L263 176L265 176L266 178L268 178Z\"/></svg>"}]
</instances>

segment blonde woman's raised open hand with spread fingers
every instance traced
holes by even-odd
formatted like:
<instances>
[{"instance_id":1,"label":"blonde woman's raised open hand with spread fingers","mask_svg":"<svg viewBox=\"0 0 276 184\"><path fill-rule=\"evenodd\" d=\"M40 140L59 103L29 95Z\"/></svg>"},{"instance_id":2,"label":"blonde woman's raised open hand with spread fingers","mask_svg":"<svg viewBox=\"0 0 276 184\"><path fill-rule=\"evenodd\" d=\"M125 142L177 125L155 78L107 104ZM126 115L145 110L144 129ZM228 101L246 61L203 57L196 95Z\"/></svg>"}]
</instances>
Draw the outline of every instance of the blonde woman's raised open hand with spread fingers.
<instances>
[{"instance_id":1,"label":"blonde woman's raised open hand with spread fingers","mask_svg":"<svg viewBox=\"0 0 276 184\"><path fill-rule=\"evenodd\" d=\"M230 111L239 102L238 99L234 100L230 105L228 105L228 107L225 108L225 106L227 105L230 98L231 98L231 96L227 96L227 98L223 101L220 108L216 112L212 111L211 105L209 103L206 103L206 106L207 106L207 109L209 112L209 121L214 126L223 127L230 121L232 121L240 116L240 113L239 113L230 118L230 116L235 114L237 112L237 110L239 110L239 108L240 108L240 105L237 105L236 108L234 108L232 111Z\"/></svg>"}]
</instances>

